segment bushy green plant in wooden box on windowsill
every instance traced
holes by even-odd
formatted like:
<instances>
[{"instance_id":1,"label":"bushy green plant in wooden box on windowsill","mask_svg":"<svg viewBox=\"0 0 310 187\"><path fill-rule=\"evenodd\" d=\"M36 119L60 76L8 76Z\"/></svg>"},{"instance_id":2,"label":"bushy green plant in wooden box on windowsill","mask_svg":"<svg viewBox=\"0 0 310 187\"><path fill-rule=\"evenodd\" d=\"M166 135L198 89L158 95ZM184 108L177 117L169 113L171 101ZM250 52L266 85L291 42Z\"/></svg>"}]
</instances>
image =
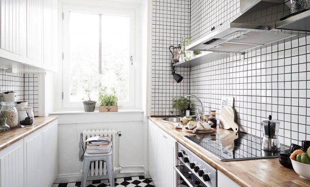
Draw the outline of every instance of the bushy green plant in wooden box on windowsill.
<instances>
[{"instance_id":1,"label":"bushy green plant in wooden box on windowsill","mask_svg":"<svg viewBox=\"0 0 310 187\"><path fill-rule=\"evenodd\" d=\"M107 94L107 88L104 87L99 92L99 112L117 112L118 106L117 102L119 101L116 96L115 89L111 89L112 94Z\"/></svg>"}]
</instances>

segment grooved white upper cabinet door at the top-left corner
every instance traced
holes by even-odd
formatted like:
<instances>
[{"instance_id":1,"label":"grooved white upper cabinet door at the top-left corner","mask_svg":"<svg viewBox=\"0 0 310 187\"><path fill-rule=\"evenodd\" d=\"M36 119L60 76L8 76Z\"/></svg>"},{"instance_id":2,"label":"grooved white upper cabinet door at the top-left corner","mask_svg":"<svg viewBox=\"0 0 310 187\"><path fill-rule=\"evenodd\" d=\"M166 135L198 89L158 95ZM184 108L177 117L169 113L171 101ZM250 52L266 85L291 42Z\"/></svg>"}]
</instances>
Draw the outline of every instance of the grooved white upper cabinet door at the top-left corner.
<instances>
[{"instance_id":1,"label":"grooved white upper cabinet door at the top-left corner","mask_svg":"<svg viewBox=\"0 0 310 187\"><path fill-rule=\"evenodd\" d=\"M0 57L22 62L26 52L26 0L0 1Z\"/></svg>"}]
</instances>

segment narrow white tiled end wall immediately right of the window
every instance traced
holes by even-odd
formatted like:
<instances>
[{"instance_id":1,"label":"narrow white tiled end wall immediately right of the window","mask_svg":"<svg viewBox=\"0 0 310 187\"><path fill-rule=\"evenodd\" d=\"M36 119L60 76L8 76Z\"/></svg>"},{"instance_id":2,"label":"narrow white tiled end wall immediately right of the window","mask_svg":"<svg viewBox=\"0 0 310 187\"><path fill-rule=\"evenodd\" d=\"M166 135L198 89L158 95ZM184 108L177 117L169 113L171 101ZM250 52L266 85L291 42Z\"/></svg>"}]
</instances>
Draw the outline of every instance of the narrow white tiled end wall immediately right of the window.
<instances>
[{"instance_id":1,"label":"narrow white tiled end wall immediately right of the window","mask_svg":"<svg viewBox=\"0 0 310 187\"><path fill-rule=\"evenodd\" d=\"M189 68L177 68L184 79L176 83L171 75L170 45L189 37L190 0L153 0L152 15L152 116L171 115L174 97L189 92Z\"/></svg>"}]
</instances>

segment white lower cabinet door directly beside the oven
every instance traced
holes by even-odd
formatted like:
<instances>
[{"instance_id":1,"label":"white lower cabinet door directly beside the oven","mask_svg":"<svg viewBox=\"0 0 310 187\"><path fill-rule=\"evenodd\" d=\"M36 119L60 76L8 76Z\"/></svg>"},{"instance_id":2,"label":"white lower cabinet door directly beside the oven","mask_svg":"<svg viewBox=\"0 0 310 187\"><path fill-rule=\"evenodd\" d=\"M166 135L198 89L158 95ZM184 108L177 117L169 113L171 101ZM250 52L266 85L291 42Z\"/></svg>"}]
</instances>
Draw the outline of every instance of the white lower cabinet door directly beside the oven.
<instances>
[{"instance_id":1,"label":"white lower cabinet door directly beside the oven","mask_svg":"<svg viewBox=\"0 0 310 187\"><path fill-rule=\"evenodd\" d=\"M162 130L158 131L158 187L174 187L176 174L176 140Z\"/></svg>"}]
</instances>

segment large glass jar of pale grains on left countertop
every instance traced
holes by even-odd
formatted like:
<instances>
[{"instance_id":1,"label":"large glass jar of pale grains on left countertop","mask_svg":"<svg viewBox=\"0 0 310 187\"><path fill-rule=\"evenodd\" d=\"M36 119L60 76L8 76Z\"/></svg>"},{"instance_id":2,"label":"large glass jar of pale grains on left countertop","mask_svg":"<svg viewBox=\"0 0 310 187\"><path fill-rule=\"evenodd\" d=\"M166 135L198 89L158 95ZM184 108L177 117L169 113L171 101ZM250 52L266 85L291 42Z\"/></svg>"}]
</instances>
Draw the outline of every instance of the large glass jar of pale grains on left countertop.
<instances>
[{"instance_id":1,"label":"large glass jar of pale grains on left countertop","mask_svg":"<svg viewBox=\"0 0 310 187\"><path fill-rule=\"evenodd\" d=\"M18 113L14 102L1 102L0 118L6 118L11 128L18 126Z\"/></svg>"}]
</instances>

